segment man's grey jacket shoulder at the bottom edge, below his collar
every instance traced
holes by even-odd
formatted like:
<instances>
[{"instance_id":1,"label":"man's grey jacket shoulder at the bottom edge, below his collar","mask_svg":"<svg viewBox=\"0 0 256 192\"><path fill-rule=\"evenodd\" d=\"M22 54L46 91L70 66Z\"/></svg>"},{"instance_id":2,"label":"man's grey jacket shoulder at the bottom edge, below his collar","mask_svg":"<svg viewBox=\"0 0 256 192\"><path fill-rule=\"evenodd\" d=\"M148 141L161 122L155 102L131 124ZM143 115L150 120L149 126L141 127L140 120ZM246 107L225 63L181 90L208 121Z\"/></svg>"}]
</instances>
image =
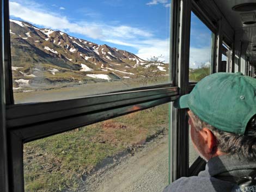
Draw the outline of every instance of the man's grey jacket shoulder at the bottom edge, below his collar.
<instances>
[{"instance_id":1,"label":"man's grey jacket shoulder at the bottom edge, below his collar","mask_svg":"<svg viewBox=\"0 0 256 192\"><path fill-rule=\"evenodd\" d=\"M163 192L218 192L228 191L233 184L214 177L181 177L164 188Z\"/></svg>"}]
</instances>

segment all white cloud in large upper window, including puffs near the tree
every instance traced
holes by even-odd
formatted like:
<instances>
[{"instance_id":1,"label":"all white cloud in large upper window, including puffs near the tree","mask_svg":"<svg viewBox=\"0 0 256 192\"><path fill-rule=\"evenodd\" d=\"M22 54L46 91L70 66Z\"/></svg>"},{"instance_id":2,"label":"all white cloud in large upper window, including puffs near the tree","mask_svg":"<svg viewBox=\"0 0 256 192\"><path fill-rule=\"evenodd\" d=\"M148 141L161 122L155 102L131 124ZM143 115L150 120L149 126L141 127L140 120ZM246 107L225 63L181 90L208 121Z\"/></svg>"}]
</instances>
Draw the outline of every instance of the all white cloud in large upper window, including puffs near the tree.
<instances>
[{"instance_id":1,"label":"all white cloud in large upper window, including puffs near the tree","mask_svg":"<svg viewBox=\"0 0 256 192\"><path fill-rule=\"evenodd\" d=\"M17 0L19 1L19 0ZM157 2L167 2L162 0ZM54 30L61 30L66 33L77 33L89 38L111 42L112 44L129 46L137 49L138 57L149 59L159 57L165 62L169 62L169 40L155 39L154 34L140 28L123 25L108 25L94 22L71 22L66 16L50 13L43 6L35 9L28 4L10 2L10 15L21 18L24 21L44 26Z\"/></svg>"}]
</instances>

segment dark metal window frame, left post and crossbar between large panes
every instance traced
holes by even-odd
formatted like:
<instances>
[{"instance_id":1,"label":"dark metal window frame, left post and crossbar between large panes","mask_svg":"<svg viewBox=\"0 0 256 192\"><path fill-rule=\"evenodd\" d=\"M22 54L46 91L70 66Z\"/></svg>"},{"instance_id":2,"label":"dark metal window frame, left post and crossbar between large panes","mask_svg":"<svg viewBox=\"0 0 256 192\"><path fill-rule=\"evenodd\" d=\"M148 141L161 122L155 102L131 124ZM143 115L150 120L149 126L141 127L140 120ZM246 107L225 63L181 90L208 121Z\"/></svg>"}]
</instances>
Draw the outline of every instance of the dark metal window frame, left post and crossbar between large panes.
<instances>
[{"instance_id":1,"label":"dark metal window frame, left post and crossbar between large panes","mask_svg":"<svg viewBox=\"0 0 256 192\"><path fill-rule=\"evenodd\" d=\"M3 159L0 164L5 172L1 188L6 191L23 192L23 144L35 139L90 125L95 122L137 112L160 104L174 101L179 96L179 88L173 82L131 90L99 94L70 100L14 104L10 57L9 1L2 0L1 34L4 34L4 61L1 60L1 103L2 112L6 110L1 125ZM3 26L3 28L2 28ZM170 34L171 36L171 34ZM169 64L169 75L176 77L177 66ZM4 77L4 78L3 78ZM3 100L3 97L1 99ZM135 107L136 106L136 107ZM139 107L139 109L138 109ZM5 113L4 113L5 114ZM30 122L29 122L29 121ZM3 132L3 133L2 133ZM5 133L6 132L6 133ZM8 166L7 166L8 159ZM8 176L9 175L9 176ZM8 181L9 180L9 181Z\"/></svg>"}]
</instances>

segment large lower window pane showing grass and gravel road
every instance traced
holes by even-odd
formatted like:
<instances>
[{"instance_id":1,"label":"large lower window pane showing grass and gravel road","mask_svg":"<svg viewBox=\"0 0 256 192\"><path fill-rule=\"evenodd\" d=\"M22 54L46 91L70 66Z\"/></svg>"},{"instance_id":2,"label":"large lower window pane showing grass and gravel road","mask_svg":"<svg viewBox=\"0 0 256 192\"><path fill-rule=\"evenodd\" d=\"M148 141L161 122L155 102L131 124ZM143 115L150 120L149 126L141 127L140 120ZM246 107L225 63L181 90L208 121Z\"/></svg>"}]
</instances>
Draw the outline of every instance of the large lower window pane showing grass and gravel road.
<instances>
[{"instance_id":1,"label":"large lower window pane showing grass and gravel road","mask_svg":"<svg viewBox=\"0 0 256 192\"><path fill-rule=\"evenodd\" d=\"M162 191L168 104L24 145L25 191Z\"/></svg>"}]
</instances>

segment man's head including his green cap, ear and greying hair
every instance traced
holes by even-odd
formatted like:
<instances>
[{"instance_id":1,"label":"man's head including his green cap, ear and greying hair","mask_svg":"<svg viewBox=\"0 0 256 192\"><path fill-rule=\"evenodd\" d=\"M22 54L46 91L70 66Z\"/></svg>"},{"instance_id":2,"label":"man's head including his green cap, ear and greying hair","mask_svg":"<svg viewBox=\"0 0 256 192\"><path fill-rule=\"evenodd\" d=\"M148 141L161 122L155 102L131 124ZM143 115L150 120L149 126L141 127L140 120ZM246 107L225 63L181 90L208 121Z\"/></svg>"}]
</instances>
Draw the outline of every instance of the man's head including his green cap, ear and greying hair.
<instances>
[{"instance_id":1,"label":"man's head including his green cap, ear and greying hair","mask_svg":"<svg viewBox=\"0 0 256 192\"><path fill-rule=\"evenodd\" d=\"M190 109L191 139L205 160L225 153L256 159L256 79L215 73L174 106Z\"/></svg>"}]
</instances>

